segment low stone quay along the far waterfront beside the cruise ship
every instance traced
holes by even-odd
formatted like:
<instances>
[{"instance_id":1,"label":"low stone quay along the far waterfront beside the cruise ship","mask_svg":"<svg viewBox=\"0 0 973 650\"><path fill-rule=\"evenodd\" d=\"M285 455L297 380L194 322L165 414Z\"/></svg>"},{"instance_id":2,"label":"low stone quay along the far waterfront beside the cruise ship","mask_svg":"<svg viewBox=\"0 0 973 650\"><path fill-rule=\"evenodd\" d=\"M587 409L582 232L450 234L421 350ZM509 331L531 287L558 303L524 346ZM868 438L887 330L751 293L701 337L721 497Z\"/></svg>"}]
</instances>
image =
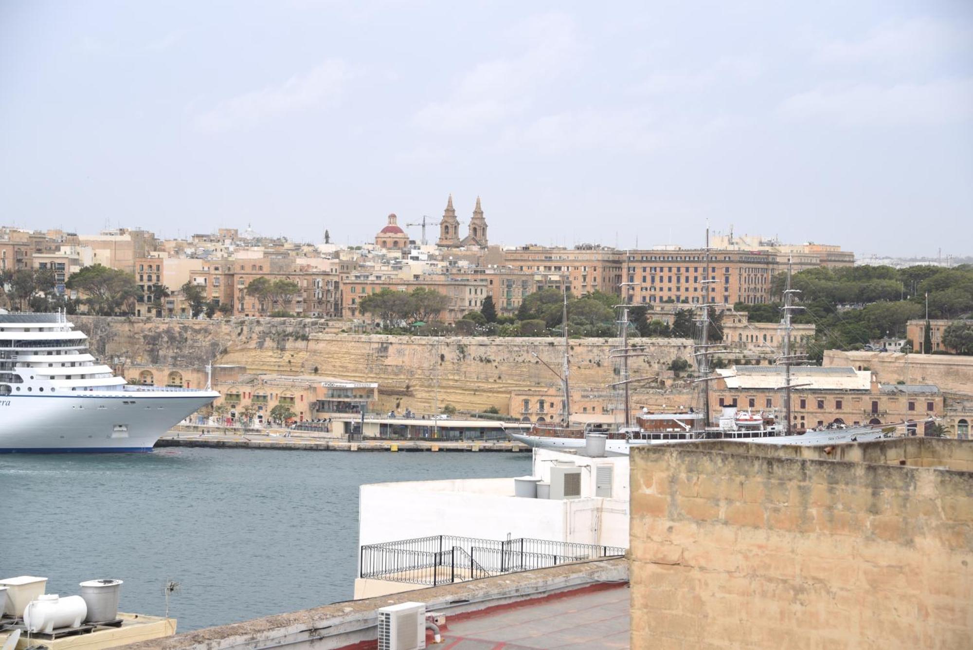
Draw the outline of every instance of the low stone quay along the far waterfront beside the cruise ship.
<instances>
[{"instance_id":1,"label":"low stone quay along the far waterfront beside the cruise ship","mask_svg":"<svg viewBox=\"0 0 973 650\"><path fill-rule=\"evenodd\" d=\"M362 440L348 442L334 438L311 436L269 435L266 433L186 433L170 432L156 442L162 447L209 447L248 450L294 451L530 451L513 441L456 441L456 440Z\"/></svg>"}]
</instances>

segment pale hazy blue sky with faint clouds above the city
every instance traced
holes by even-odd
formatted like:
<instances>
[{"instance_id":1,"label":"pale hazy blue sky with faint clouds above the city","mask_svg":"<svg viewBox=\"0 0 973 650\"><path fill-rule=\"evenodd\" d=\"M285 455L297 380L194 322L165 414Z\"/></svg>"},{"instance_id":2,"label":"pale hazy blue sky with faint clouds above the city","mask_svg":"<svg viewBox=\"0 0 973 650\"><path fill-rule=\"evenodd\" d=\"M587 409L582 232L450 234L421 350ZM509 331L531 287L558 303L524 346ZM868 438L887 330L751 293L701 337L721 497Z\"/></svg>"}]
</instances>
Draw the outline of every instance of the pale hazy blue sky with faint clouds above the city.
<instances>
[{"instance_id":1,"label":"pale hazy blue sky with faint clouds above the city","mask_svg":"<svg viewBox=\"0 0 973 650\"><path fill-rule=\"evenodd\" d=\"M973 254L973 3L0 0L2 225L355 244L450 194L504 245Z\"/></svg>"}]
</instances>

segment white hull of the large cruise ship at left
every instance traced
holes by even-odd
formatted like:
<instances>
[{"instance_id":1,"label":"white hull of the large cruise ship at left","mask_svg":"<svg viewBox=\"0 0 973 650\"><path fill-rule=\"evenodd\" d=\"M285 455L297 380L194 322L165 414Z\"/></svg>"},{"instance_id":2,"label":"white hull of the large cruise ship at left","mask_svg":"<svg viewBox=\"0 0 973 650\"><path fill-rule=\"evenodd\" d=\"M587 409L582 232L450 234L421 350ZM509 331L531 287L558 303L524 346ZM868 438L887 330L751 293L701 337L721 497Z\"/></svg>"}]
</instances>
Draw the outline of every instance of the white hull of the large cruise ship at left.
<instances>
[{"instance_id":1,"label":"white hull of the large cruise ship at left","mask_svg":"<svg viewBox=\"0 0 973 650\"><path fill-rule=\"evenodd\" d=\"M218 393L0 396L0 453L146 452Z\"/></svg>"}]
</instances>

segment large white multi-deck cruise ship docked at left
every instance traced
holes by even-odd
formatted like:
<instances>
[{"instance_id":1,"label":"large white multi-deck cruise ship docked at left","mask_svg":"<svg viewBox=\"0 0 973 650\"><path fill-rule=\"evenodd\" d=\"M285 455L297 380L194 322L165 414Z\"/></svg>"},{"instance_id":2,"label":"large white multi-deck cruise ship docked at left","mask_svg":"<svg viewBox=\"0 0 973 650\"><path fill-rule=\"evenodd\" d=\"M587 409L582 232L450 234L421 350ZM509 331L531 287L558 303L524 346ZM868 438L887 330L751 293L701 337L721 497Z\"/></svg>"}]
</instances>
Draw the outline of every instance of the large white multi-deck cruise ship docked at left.
<instances>
[{"instance_id":1,"label":"large white multi-deck cruise ship docked at left","mask_svg":"<svg viewBox=\"0 0 973 650\"><path fill-rule=\"evenodd\" d=\"M0 309L0 453L152 451L219 393L129 385L64 313Z\"/></svg>"}]
</instances>

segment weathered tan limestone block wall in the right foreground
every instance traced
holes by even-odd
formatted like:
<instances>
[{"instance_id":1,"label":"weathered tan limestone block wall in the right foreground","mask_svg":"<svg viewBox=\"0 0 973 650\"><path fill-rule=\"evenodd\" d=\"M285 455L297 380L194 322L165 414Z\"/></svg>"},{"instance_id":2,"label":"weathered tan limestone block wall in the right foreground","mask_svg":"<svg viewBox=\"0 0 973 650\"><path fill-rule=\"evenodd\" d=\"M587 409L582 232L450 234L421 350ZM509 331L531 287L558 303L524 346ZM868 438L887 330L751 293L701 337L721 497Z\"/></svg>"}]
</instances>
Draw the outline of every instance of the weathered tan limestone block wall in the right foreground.
<instances>
[{"instance_id":1,"label":"weathered tan limestone block wall in the right foreground","mask_svg":"<svg viewBox=\"0 0 973 650\"><path fill-rule=\"evenodd\" d=\"M973 647L973 473L910 466L973 443L935 442L632 451L632 647Z\"/></svg>"}]
</instances>

